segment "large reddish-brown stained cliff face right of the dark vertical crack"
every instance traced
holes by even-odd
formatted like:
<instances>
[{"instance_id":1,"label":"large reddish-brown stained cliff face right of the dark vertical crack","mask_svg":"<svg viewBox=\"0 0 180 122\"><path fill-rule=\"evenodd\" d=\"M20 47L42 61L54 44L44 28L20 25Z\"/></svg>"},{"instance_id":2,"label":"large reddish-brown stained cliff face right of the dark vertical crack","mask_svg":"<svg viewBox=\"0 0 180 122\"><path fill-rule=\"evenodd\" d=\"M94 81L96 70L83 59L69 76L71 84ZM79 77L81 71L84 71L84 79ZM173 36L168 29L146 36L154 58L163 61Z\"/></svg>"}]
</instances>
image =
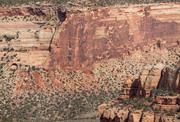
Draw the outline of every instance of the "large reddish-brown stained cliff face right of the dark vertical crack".
<instances>
[{"instance_id":1,"label":"large reddish-brown stained cliff face right of the dark vertical crack","mask_svg":"<svg viewBox=\"0 0 180 122\"><path fill-rule=\"evenodd\" d=\"M96 61L129 55L149 44L178 46L179 6L109 7L70 13L53 48L57 66L88 69Z\"/></svg>"}]
</instances>

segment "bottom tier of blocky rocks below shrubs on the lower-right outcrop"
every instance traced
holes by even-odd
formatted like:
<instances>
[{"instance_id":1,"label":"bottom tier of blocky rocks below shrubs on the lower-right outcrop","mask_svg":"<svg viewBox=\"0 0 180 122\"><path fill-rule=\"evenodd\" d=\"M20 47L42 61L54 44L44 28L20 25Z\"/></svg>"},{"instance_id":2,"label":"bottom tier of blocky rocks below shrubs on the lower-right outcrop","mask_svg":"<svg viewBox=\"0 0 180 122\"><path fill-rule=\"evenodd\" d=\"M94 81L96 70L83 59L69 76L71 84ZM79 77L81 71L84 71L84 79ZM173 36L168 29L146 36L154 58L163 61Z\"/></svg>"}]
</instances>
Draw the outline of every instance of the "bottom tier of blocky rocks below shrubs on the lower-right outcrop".
<instances>
[{"instance_id":1,"label":"bottom tier of blocky rocks below shrubs on the lower-right outcrop","mask_svg":"<svg viewBox=\"0 0 180 122\"><path fill-rule=\"evenodd\" d=\"M162 97L162 96L161 96ZM163 98L163 97L162 97ZM174 101L177 97L164 96L164 99L169 99L170 103L160 103L157 100L152 103L157 105L156 108L147 105L143 99L133 101L133 99L116 102L114 105L102 104L105 109L98 109L101 122L176 122L179 121L178 109L179 106ZM129 102L129 104L128 104ZM152 107L152 109L151 109ZM158 108L159 107L159 108ZM113 116L112 116L113 115Z\"/></svg>"}]
</instances>

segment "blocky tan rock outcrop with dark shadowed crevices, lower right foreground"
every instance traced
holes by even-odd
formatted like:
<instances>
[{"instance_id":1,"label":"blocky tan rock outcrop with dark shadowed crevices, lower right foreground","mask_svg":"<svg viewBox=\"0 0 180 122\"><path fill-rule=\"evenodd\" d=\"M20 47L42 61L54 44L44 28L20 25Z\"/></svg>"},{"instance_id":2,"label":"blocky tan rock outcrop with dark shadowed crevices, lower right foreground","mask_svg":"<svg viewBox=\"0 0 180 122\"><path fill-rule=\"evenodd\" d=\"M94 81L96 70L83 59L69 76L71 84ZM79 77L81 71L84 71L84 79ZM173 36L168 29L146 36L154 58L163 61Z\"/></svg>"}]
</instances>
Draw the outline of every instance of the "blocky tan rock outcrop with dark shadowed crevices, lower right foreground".
<instances>
[{"instance_id":1,"label":"blocky tan rock outcrop with dark shadowed crevices, lower right foreground","mask_svg":"<svg viewBox=\"0 0 180 122\"><path fill-rule=\"evenodd\" d=\"M111 102L103 104L104 109L98 108L101 122L179 121L179 68L175 71L169 68L166 75L164 69L167 68L162 64L147 66L139 79L133 81L131 78L124 82L119 103L115 101L114 105Z\"/></svg>"}]
</instances>

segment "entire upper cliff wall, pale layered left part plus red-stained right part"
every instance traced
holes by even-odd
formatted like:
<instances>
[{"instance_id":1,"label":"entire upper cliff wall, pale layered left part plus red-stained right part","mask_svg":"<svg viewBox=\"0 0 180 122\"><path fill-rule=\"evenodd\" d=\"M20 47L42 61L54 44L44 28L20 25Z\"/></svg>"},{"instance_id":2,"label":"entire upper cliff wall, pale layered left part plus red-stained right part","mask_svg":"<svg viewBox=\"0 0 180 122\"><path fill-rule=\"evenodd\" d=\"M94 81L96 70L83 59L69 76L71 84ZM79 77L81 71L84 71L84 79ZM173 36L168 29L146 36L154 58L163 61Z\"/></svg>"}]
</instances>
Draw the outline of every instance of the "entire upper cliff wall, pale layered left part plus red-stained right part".
<instances>
[{"instance_id":1,"label":"entire upper cliff wall, pale layered left part plus red-stained right part","mask_svg":"<svg viewBox=\"0 0 180 122\"><path fill-rule=\"evenodd\" d=\"M97 61L130 55L151 44L178 46L180 5L161 6L100 8L67 16L55 6L1 8L1 50L12 45L20 58L30 57L29 62L22 60L27 64L89 70ZM50 23L58 19L66 21L59 27ZM33 55L26 57L23 50Z\"/></svg>"}]
</instances>

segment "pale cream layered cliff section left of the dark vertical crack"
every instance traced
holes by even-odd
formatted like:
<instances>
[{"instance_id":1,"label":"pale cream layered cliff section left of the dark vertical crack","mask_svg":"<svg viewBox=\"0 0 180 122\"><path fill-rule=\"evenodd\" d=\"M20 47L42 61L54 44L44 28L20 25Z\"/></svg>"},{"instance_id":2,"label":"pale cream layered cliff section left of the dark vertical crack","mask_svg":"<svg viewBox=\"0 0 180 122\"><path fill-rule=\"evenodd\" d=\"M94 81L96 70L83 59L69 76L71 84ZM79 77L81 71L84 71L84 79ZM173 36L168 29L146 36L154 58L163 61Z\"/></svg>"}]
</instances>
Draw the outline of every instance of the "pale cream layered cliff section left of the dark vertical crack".
<instances>
[{"instance_id":1,"label":"pale cream layered cliff section left of the dark vertical crack","mask_svg":"<svg viewBox=\"0 0 180 122\"><path fill-rule=\"evenodd\" d=\"M20 63L47 68L56 11L51 6L0 8L0 55L10 49Z\"/></svg>"}]
</instances>

